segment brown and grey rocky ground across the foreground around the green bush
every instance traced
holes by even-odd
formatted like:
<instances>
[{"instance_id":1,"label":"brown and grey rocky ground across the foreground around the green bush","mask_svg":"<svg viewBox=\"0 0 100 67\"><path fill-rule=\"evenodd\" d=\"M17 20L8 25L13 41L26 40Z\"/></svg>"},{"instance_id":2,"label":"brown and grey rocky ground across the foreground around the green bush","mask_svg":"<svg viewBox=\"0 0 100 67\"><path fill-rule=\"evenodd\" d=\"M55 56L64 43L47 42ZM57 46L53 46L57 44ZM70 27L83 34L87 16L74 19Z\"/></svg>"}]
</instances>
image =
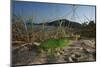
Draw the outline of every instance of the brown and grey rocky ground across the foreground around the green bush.
<instances>
[{"instance_id":1,"label":"brown and grey rocky ground across the foreground around the green bush","mask_svg":"<svg viewBox=\"0 0 100 67\"><path fill-rule=\"evenodd\" d=\"M56 57L48 57L45 53L41 53L37 49L35 46L13 49L12 64L30 65L96 61L96 43L93 39L71 40L70 46L64 47L56 54Z\"/></svg>"}]
</instances>

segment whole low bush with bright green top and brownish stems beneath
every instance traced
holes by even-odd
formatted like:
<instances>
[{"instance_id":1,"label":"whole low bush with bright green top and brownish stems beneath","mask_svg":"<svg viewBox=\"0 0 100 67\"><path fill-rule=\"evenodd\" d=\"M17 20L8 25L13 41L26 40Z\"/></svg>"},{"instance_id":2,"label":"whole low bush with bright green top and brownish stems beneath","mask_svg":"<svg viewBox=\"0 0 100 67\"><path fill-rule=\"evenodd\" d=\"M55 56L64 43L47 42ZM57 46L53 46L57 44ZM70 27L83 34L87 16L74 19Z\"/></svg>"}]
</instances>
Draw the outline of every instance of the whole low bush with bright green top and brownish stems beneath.
<instances>
[{"instance_id":1,"label":"whole low bush with bright green top and brownish stems beneath","mask_svg":"<svg viewBox=\"0 0 100 67\"><path fill-rule=\"evenodd\" d=\"M49 56L55 56L57 49L62 49L63 47L69 46L69 40L67 38L61 38L61 39L48 39L43 41L40 44L40 48L43 49L44 52L47 53Z\"/></svg>"}]
</instances>

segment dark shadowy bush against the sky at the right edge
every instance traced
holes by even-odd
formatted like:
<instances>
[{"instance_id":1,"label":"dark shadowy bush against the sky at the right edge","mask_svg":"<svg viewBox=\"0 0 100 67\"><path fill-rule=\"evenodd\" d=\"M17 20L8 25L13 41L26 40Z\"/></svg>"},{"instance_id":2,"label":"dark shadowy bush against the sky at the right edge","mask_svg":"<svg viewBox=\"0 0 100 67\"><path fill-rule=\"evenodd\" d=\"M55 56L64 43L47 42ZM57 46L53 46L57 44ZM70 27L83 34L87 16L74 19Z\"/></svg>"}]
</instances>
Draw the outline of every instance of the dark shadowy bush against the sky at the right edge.
<instances>
[{"instance_id":1,"label":"dark shadowy bush against the sky at the right edge","mask_svg":"<svg viewBox=\"0 0 100 67\"><path fill-rule=\"evenodd\" d=\"M96 37L96 23L89 21L89 23L82 24L81 36L85 37Z\"/></svg>"}]
</instances>

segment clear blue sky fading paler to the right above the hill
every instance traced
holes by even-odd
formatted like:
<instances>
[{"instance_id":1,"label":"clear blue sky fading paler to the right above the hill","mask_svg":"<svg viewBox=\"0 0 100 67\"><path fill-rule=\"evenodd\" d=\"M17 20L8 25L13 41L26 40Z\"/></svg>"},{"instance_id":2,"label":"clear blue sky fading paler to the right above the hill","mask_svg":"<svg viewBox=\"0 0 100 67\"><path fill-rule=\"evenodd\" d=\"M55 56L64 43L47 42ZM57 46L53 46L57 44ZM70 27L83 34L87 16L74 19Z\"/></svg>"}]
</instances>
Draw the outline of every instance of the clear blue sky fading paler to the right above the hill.
<instances>
[{"instance_id":1,"label":"clear blue sky fading paler to the right above the hill","mask_svg":"<svg viewBox=\"0 0 100 67\"><path fill-rule=\"evenodd\" d=\"M68 19L78 23L86 22L88 19L95 20L95 6L88 5L13 1L12 10L14 15L22 16L24 20L32 17L34 23L57 19Z\"/></svg>"}]
</instances>

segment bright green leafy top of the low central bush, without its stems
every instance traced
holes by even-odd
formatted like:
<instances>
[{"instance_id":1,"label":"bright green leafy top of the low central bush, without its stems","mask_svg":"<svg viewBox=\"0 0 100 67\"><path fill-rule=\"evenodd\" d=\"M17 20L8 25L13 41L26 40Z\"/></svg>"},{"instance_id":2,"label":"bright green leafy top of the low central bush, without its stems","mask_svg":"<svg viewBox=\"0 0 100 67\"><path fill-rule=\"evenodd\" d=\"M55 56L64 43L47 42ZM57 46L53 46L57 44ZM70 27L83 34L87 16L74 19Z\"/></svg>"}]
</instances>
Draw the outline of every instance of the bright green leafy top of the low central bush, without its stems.
<instances>
[{"instance_id":1,"label":"bright green leafy top of the low central bush, without its stems","mask_svg":"<svg viewBox=\"0 0 100 67\"><path fill-rule=\"evenodd\" d=\"M69 45L69 40L67 38L63 39L48 39L41 43L40 48L46 49L55 49L62 48Z\"/></svg>"}]
</instances>

